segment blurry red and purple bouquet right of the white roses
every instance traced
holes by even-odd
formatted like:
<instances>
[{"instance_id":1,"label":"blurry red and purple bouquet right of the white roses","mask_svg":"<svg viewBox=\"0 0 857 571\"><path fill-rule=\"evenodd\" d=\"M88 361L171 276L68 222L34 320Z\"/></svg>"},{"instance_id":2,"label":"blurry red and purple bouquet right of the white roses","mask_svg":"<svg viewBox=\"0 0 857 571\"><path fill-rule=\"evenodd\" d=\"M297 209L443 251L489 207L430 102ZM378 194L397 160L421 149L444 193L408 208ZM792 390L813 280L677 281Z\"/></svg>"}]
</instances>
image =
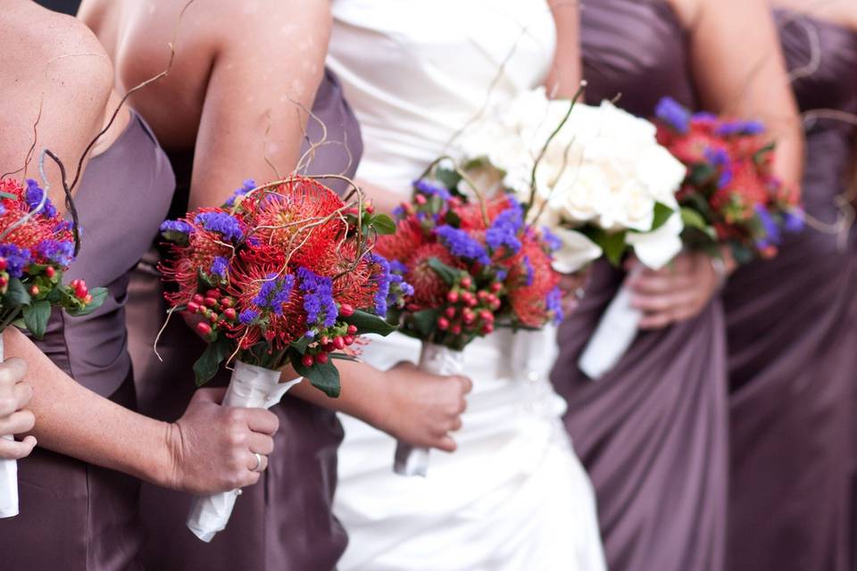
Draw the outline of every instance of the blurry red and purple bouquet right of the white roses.
<instances>
[{"instance_id":1,"label":"blurry red and purple bouquet right of the white roses","mask_svg":"<svg viewBox=\"0 0 857 571\"><path fill-rule=\"evenodd\" d=\"M669 97L655 115L658 141L687 167L676 196L689 247L720 255L728 244L745 263L776 255L783 232L803 228L800 195L773 175L774 145L759 121L691 113Z\"/></svg>"}]
</instances>

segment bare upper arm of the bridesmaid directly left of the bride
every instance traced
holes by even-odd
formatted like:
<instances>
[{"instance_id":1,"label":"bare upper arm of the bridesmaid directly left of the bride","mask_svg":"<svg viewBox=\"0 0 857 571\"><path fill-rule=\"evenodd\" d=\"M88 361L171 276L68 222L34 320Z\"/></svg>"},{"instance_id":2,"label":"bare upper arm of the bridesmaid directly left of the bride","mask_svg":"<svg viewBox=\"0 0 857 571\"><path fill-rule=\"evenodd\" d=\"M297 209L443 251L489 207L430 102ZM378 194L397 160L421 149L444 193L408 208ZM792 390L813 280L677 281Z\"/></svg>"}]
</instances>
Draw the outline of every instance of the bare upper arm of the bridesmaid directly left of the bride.
<instances>
[{"instance_id":1,"label":"bare upper arm of the bridesmaid directly left of the bride","mask_svg":"<svg viewBox=\"0 0 857 571\"><path fill-rule=\"evenodd\" d=\"M205 92L191 208L223 203L245 178L275 180L299 159L306 111L324 72L329 3L262 4L253 14L244 13L241 3L216 14L220 33L236 25L242 33L229 32Z\"/></svg>"}]
</instances>

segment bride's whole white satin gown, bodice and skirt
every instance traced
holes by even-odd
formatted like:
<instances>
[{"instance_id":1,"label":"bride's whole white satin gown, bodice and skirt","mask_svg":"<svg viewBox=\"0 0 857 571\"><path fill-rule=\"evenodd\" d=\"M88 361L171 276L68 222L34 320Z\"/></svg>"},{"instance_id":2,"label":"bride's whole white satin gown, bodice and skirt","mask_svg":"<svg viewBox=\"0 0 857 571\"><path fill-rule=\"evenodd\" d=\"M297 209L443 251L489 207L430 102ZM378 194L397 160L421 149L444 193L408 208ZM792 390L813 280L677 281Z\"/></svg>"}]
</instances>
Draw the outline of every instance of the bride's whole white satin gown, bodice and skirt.
<instances>
[{"instance_id":1,"label":"bride's whole white satin gown, bodice and skirt","mask_svg":"<svg viewBox=\"0 0 857 571\"><path fill-rule=\"evenodd\" d=\"M329 66L361 122L357 178L402 195L492 103L539 86L556 32L545 0L334 0ZM503 66L503 62L505 62ZM503 68L501 70L501 68ZM493 88L491 87L493 84ZM560 420L548 373L555 331L500 330L465 350L473 380L458 451L428 476L393 473L395 440L343 417L337 517L343 571L600 571L595 497ZM364 357L416 362L394 334Z\"/></svg>"}]
</instances>

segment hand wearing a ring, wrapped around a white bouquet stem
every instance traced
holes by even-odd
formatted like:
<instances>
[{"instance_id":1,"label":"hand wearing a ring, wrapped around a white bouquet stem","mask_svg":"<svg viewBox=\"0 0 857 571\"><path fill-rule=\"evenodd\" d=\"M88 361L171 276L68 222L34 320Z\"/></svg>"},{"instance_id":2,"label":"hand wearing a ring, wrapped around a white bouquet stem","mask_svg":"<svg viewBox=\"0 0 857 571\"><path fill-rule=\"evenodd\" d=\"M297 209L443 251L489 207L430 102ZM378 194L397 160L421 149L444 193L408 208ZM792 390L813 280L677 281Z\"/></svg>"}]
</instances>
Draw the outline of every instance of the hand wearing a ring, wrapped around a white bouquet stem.
<instances>
[{"instance_id":1,"label":"hand wearing a ring, wrapped around a white bouquet stem","mask_svg":"<svg viewBox=\"0 0 857 571\"><path fill-rule=\"evenodd\" d=\"M222 406L225 393L226 389L196 391L185 414L171 425L172 468L162 485L203 494L259 481L274 450L272 436L279 418L268 410Z\"/></svg>"}]
</instances>

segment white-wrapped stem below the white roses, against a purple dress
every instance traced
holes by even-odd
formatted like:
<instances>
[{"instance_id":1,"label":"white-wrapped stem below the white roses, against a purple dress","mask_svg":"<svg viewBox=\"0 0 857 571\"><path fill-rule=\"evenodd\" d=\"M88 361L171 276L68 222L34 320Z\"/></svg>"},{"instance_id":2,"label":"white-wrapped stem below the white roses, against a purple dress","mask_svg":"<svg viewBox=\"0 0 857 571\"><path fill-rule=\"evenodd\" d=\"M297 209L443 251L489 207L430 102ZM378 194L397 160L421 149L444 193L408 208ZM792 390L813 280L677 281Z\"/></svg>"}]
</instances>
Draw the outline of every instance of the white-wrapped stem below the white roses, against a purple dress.
<instances>
[{"instance_id":1,"label":"white-wrapped stem below the white roses, against a purple dress","mask_svg":"<svg viewBox=\"0 0 857 571\"><path fill-rule=\"evenodd\" d=\"M632 272L628 277L635 275ZM637 324L642 313L631 307L631 293L627 283L620 287L616 297L607 306L595 333L580 354L578 368L594 381L616 366L637 337Z\"/></svg>"}]
</instances>

